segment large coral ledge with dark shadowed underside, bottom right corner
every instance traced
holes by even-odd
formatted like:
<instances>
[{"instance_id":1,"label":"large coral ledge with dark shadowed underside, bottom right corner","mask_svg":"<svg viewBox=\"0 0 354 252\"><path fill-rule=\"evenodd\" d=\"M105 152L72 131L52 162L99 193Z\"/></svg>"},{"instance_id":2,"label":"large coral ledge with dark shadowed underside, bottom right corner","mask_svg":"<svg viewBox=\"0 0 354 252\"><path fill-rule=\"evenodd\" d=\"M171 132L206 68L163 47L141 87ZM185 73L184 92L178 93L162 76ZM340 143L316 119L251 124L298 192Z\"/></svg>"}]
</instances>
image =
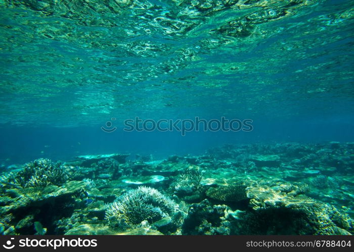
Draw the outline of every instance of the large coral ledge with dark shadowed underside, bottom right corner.
<instances>
[{"instance_id":1,"label":"large coral ledge with dark shadowed underside, bottom right corner","mask_svg":"<svg viewBox=\"0 0 354 252\"><path fill-rule=\"evenodd\" d=\"M350 217L303 194L307 185L252 181L246 189L252 211L236 215L236 234L350 234ZM234 215L235 217L235 215Z\"/></svg>"}]
</instances>

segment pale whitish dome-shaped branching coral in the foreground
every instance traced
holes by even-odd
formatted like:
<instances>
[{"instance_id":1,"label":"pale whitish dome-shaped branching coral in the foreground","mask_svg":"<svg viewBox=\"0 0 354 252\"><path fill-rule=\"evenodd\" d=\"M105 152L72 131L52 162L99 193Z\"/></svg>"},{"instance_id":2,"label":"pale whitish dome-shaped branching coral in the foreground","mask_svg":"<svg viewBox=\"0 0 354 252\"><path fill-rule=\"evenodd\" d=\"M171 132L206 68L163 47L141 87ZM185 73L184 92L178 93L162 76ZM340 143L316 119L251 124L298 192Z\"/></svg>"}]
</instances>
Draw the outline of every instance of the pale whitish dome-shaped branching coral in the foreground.
<instances>
[{"instance_id":1,"label":"pale whitish dome-shaped branching coral in the foreground","mask_svg":"<svg viewBox=\"0 0 354 252\"><path fill-rule=\"evenodd\" d=\"M109 204L106 219L111 225L134 226L144 220L154 223L177 210L178 205L156 189L140 186Z\"/></svg>"}]
</instances>

